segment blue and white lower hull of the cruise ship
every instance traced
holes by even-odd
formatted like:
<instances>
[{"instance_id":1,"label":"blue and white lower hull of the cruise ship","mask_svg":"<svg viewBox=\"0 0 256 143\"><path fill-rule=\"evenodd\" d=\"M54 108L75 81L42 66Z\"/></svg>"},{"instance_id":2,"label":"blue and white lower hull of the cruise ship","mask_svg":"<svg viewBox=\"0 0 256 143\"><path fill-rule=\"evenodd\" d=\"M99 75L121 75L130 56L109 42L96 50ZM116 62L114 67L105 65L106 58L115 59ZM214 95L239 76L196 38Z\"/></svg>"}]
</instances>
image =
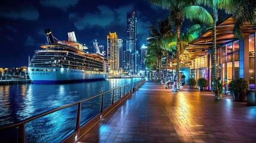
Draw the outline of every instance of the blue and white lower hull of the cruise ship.
<instances>
[{"instance_id":1,"label":"blue and white lower hull of the cruise ship","mask_svg":"<svg viewBox=\"0 0 256 143\"><path fill-rule=\"evenodd\" d=\"M104 80L106 72L67 69L29 67L29 77L36 84L79 83Z\"/></svg>"}]
</instances>

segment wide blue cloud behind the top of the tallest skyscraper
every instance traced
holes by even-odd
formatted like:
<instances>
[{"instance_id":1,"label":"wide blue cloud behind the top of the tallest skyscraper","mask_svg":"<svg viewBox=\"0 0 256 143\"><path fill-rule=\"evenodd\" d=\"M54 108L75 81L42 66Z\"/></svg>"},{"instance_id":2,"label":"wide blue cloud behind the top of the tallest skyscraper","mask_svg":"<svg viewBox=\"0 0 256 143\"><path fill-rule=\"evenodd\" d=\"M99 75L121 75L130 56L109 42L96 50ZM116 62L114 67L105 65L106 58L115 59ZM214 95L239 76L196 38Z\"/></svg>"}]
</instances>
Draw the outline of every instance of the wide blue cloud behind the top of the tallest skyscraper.
<instances>
[{"instance_id":1,"label":"wide blue cloud behind the top of the tallest skyscraper","mask_svg":"<svg viewBox=\"0 0 256 143\"><path fill-rule=\"evenodd\" d=\"M115 8L112 10L106 5L98 6L98 12L95 13L86 13L84 17L78 17L77 13L70 13L69 20L75 21L75 27L78 30L85 28L94 28L95 26L100 26L106 28L112 24L115 25L126 25L127 24L127 12L132 11L132 5L125 5L123 7ZM141 12L137 13L137 34L147 33L147 28L150 25L150 22L147 21L146 17L139 17L138 15ZM103 22L104 21L104 22ZM126 26L125 26L126 27Z\"/></svg>"}]
</instances>

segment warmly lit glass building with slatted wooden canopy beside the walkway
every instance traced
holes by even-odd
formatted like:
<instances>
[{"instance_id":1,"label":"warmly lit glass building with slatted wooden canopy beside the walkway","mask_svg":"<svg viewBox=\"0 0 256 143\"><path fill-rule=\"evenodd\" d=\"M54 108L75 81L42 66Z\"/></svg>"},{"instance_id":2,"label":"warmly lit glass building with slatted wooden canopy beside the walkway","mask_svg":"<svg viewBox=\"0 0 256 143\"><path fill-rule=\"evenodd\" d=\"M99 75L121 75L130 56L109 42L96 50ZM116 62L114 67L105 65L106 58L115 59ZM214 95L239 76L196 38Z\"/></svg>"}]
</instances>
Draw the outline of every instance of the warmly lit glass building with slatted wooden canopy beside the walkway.
<instances>
[{"instance_id":1,"label":"warmly lit glass building with slatted wooden canopy beside the walkway","mask_svg":"<svg viewBox=\"0 0 256 143\"><path fill-rule=\"evenodd\" d=\"M243 38L234 38L232 33L235 21L232 17L217 26L217 77L224 82L223 93L230 94L229 83L236 78L244 78L249 82L249 88L255 90L255 26L242 27ZM191 77L205 77L209 80L211 89L211 48L212 31L196 39L187 47L192 59ZM200 47L200 48L199 48ZM200 55L202 54L202 55Z\"/></svg>"}]
</instances>

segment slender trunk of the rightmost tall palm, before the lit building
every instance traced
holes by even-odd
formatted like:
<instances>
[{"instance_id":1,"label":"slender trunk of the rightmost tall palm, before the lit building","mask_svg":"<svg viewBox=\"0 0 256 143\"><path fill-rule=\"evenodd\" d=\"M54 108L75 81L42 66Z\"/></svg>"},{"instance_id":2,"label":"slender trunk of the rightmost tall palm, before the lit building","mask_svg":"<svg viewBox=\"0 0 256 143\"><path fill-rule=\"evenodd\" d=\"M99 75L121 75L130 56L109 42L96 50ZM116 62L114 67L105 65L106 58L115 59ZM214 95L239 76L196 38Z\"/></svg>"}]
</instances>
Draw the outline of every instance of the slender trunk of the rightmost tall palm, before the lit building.
<instances>
[{"instance_id":1,"label":"slender trunk of the rightmost tall palm, before the lit building","mask_svg":"<svg viewBox=\"0 0 256 143\"><path fill-rule=\"evenodd\" d=\"M218 11L217 8L213 8L213 18L214 18L214 26L212 29L212 81L216 79L217 71L216 71L216 23L218 21Z\"/></svg>"}]
</instances>

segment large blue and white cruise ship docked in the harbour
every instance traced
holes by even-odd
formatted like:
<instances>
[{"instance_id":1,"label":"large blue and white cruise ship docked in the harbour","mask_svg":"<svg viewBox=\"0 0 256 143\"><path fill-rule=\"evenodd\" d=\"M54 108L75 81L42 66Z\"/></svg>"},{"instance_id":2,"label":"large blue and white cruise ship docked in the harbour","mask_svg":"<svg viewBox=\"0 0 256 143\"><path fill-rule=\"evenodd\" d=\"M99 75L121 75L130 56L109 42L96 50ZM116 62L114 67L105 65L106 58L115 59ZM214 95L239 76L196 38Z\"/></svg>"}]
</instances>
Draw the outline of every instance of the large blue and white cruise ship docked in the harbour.
<instances>
[{"instance_id":1,"label":"large blue and white cruise ship docked in the harbour","mask_svg":"<svg viewBox=\"0 0 256 143\"><path fill-rule=\"evenodd\" d=\"M100 53L88 53L68 32L68 41L58 41L50 29L45 30L47 43L35 50L29 59L28 74L33 83L77 83L104 80L109 74L109 61Z\"/></svg>"}]
</instances>

